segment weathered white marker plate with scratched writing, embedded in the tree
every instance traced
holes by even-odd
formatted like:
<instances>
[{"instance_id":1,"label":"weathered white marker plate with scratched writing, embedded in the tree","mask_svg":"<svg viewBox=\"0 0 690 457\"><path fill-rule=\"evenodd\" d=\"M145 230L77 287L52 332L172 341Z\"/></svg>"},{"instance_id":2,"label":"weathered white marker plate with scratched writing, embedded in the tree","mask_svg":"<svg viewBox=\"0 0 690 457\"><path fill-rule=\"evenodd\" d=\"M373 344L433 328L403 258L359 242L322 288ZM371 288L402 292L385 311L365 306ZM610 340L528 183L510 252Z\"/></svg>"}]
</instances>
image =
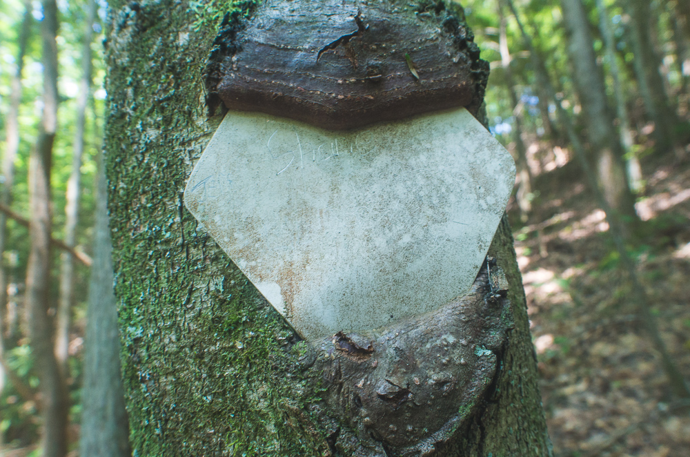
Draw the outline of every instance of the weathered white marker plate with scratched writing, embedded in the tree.
<instances>
[{"instance_id":1,"label":"weathered white marker plate with scratched writing, embedded in the tree","mask_svg":"<svg viewBox=\"0 0 690 457\"><path fill-rule=\"evenodd\" d=\"M466 293L515 182L464 108L331 131L230 112L184 201L307 340Z\"/></svg>"}]
</instances>

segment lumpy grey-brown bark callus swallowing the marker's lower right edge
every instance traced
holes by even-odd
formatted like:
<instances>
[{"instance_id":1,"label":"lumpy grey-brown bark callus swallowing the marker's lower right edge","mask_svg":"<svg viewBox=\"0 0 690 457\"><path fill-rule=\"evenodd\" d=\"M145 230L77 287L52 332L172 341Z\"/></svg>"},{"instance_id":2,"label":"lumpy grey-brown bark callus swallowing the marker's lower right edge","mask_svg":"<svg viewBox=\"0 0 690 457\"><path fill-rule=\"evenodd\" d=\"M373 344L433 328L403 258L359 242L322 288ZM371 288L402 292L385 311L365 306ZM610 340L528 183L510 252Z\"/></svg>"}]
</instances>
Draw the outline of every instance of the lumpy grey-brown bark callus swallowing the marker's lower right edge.
<instances>
[{"instance_id":1,"label":"lumpy grey-brown bark callus swallowing the marker's lower right edge","mask_svg":"<svg viewBox=\"0 0 690 457\"><path fill-rule=\"evenodd\" d=\"M485 262L469 293L436 311L316 344L309 365L326 389L325 414L352 430L333 431L332 448L360 457L431 456L462 433L493 395L514 327L497 273Z\"/></svg>"}]
</instances>

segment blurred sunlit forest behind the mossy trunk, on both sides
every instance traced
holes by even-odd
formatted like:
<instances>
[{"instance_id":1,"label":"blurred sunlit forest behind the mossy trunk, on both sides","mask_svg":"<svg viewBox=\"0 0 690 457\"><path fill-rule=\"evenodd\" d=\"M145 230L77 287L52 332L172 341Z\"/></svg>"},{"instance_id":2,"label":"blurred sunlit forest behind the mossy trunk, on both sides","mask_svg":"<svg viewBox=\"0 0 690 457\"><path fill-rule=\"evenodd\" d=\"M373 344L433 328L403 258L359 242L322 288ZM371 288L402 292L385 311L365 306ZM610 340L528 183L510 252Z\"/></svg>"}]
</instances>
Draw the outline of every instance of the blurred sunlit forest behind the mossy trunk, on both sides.
<instances>
[{"instance_id":1,"label":"blurred sunlit forest behind the mossy trunk, on both sides","mask_svg":"<svg viewBox=\"0 0 690 457\"><path fill-rule=\"evenodd\" d=\"M5 456L40 455L39 373L25 295L32 250L28 176L44 111L47 3L0 3ZM508 211L555 454L685 455L690 403L673 370L690 378L690 3L513 3L464 0L462 6L482 58L491 63L491 132L518 166ZM204 8L188 4L190 14ZM57 1L59 108L50 161L55 335L46 338L69 392L75 455L86 322L99 318L88 316L87 307L107 98L106 10L103 0ZM585 82L587 75L601 87ZM608 130L597 136L602 124Z\"/></svg>"}]
</instances>

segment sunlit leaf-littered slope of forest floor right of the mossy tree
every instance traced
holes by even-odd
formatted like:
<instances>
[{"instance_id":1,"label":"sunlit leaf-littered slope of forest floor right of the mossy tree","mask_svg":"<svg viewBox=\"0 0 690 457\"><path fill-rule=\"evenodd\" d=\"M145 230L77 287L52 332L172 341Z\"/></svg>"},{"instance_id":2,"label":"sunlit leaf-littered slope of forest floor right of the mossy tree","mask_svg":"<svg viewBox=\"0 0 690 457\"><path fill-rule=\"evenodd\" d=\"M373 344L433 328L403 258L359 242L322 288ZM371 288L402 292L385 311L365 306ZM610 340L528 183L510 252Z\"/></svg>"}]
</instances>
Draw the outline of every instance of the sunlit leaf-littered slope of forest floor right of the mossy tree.
<instances>
[{"instance_id":1,"label":"sunlit leaf-littered slope of forest floor right of the mossy tree","mask_svg":"<svg viewBox=\"0 0 690 457\"><path fill-rule=\"evenodd\" d=\"M689 456L688 405L674 400L627 299L604 213L565 151L529 163L540 189L523 224L509 205L546 420L558 457ZM662 338L690 379L690 153L642 161L647 186L631 251Z\"/></svg>"}]
</instances>

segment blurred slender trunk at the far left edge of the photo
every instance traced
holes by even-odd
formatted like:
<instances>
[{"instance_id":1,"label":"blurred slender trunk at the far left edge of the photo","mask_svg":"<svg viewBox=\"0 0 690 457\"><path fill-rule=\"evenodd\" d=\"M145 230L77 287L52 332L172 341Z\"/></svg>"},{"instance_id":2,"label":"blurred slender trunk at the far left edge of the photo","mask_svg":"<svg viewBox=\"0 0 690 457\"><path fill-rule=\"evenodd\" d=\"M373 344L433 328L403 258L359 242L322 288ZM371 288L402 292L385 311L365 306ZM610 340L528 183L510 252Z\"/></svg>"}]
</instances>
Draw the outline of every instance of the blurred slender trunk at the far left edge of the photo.
<instances>
[{"instance_id":1,"label":"blurred slender trunk at the far left edge of the photo","mask_svg":"<svg viewBox=\"0 0 690 457\"><path fill-rule=\"evenodd\" d=\"M12 185L14 184L14 159L17 158L19 151L19 106L21 105L21 75L24 68L24 55L26 46L31 33L31 2L24 1L24 15L17 34L17 68L14 70L12 81L10 82L10 109L5 118L6 128L6 148L3 154L2 173L4 182L0 193L0 204L10 206L12 202ZM7 294L7 271L3 252L7 240L7 216L0 213L0 356L6 349L6 335L10 331L8 323L8 294ZM0 373L1 376L1 373Z\"/></svg>"}]
</instances>

